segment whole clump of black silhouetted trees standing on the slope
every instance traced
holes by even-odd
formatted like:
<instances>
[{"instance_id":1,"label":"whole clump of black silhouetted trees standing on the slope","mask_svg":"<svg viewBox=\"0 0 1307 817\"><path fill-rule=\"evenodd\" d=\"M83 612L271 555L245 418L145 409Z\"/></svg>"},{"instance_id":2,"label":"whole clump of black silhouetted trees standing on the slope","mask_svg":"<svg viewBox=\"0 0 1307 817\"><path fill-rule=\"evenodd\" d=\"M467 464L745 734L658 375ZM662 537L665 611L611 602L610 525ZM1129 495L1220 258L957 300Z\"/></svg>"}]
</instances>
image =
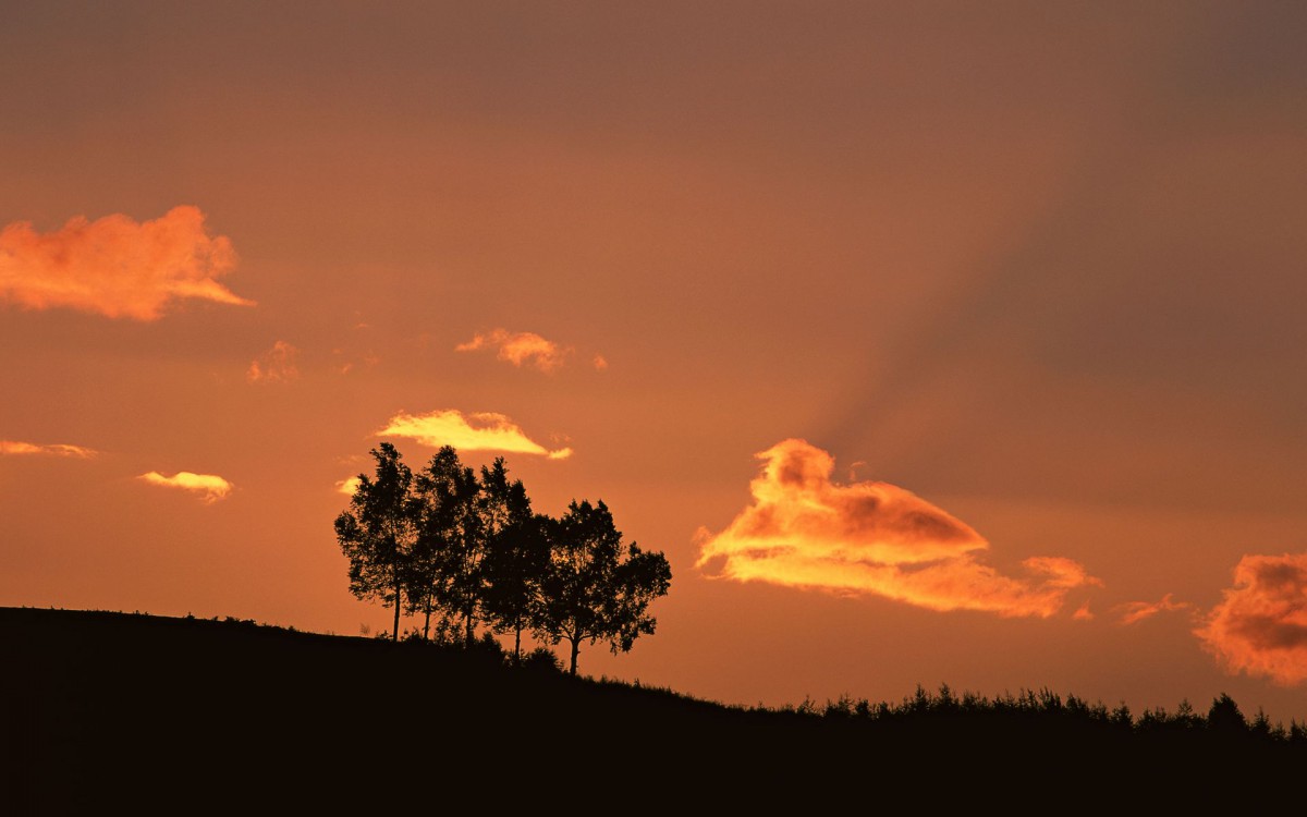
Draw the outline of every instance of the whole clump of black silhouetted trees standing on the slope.
<instances>
[{"instance_id":1,"label":"whole clump of black silhouetted trees standing on the slope","mask_svg":"<svg viewBox=\"0 0 1307 817\"><path fill-rule=\"evenodd\" d=\"M627 545L603 501L576 502L561 518L536 514L503 458L477 475L451 446L417 473L388 442L371 451L375 475L359 475L336 539L349 559L349 590L400 614L422 617L421 638L456 633L465 644L478 626L571 646L570 672L584 642L629 651L656 620L672 569L659 552Z\"/></svg>"}]
</instances>

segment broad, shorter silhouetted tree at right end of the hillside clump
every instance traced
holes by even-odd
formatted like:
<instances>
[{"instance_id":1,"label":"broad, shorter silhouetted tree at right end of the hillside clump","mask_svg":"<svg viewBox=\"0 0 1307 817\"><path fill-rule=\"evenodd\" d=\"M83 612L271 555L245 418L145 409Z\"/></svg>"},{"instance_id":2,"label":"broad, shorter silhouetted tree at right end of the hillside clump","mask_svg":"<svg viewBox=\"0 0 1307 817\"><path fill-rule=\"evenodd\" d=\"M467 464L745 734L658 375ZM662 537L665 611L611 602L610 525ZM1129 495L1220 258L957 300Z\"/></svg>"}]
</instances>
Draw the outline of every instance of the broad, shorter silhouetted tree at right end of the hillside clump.
<instances>
[{"instance_id":1,"label":"broad, shorter silhouetted tree at right end of the hillside clump","mask_svg":"<svg viewBox=\"0 0 1307 817\"><path fill-rule=\"evenodd\" d=\"M634 542L627 548L603 501L572 501L548 528L550 565L536 629L552 643L567 639L569 672L576 675L582 642L605 641L617 654L654 633L656 620L647 608L667 593L672 569L661 553Z\"/></svg>"}]
</instances>

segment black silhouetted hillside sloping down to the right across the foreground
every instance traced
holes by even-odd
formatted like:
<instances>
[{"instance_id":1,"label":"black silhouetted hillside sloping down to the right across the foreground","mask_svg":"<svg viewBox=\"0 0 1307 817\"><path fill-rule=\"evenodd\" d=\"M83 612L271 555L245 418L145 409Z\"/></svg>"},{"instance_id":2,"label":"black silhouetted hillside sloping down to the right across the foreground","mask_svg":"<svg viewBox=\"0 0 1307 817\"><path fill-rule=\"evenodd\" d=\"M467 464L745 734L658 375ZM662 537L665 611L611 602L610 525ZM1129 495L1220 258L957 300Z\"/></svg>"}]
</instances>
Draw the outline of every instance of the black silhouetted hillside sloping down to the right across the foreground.
<instances>
[{"instance_id":1,"label":"black silhouetted hillside sloping down to the right across the foreground","mask_svg":"<svg viewBox=\"0 0 1307 817\"><path fill-rule=\"evenodd\" d=\"M26 608L0 608L0 814L1256 813L1307 780L1307 741L1047 701L742 710L427 644Z\"/></svg>"}]
</instances>

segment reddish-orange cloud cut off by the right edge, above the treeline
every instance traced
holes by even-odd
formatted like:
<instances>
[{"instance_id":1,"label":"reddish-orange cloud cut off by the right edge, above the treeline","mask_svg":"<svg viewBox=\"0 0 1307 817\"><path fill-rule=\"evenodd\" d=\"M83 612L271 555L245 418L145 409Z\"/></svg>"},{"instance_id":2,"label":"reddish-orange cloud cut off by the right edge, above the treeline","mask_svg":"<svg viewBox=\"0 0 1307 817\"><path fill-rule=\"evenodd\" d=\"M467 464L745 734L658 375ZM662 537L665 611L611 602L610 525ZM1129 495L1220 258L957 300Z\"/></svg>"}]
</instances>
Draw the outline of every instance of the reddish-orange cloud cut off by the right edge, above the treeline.
<instances>
[{"instance_id":1,"label":"reddish-orange cloud cut off by the right edge, above the treeline","mask_svg":"<svg viewBox=\"0 0 1307 817\"><path fill-rule=\"evenodd\" d=\"M1307 680L1307 553L1244 556L1234 587L1193 633L1231 673Z\"/></svg>"}]
</instances>

